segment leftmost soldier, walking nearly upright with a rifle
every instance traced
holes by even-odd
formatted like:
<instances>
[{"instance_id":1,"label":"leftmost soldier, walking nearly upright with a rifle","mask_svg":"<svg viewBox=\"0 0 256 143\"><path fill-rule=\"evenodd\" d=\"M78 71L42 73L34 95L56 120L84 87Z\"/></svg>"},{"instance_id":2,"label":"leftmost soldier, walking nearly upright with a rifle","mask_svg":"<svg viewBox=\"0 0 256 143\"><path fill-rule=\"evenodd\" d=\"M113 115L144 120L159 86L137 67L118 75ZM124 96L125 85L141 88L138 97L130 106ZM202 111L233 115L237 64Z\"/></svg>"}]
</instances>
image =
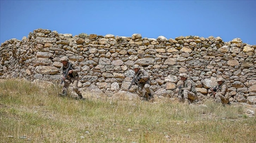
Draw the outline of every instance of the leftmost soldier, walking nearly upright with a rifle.
<instances>
[{"instance_id":1,"label":"leftmost soldier, walking nearly upright with a rifle","mask_svg":"<svg viewBox=\"0 0 256 143\"><path fill-rule=\"evenodd\" d=\"M82 94L80 93L77 85L78 85L78 80L79 80L79 75L78 75L78 72L80 71L80 69L75 66L74 64L70 63L68 61L68 57L67 56L64 56L60 59L61 63L62 63L62 66L61 66L61 77L63 79L63 82L64 82L64 86L62 88L62 94L61 95L64 95L66 96L67 95L67 88L69 86L69 84L72 83L72 86L73 86L73 89L75 91L75 93L78 94L79 98L80 99L83 99L83 96ZM68 72L68 73L67 73ZM66 77L65 77L66 75Z\"/></svg>"}]
</instances>

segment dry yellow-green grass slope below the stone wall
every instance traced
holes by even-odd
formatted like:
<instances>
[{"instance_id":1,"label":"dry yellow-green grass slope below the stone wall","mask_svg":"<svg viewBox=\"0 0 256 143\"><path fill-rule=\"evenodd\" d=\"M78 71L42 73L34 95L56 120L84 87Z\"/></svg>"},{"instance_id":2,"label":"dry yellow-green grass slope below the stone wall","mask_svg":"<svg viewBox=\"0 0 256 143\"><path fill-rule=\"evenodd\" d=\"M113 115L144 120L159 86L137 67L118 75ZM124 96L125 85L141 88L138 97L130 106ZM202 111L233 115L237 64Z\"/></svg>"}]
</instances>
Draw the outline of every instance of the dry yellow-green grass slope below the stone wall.
<instances>
[{"instance_id":1,"label":"dry yellow-green grass slope below the stone wall","mask_svg":"<svg viewBox=\"0 0 256 143\"><path fill-rule=\"evenodd\" d=\"M256 118L242 106L208 101L182 105L167 100L57 96L23 80L0 81L0 142L246 142L255 143Z\"/></svg>"}]
</instances>

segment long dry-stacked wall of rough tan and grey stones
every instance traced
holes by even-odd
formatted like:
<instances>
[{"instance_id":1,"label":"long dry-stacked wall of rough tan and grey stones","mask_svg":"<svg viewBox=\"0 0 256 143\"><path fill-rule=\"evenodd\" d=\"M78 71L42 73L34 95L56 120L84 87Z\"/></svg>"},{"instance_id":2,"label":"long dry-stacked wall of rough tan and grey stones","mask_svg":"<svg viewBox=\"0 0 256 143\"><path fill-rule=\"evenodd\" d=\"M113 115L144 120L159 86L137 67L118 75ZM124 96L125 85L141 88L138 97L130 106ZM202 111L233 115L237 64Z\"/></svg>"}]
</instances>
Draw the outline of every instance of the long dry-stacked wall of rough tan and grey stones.
<instances>
[{"instance_id":1,"label":"long dry-stacked wall of rough tan and grey stones","mask_svg":"<svg viewBox=\"0 0 256 143\"><path fill-rule=\"evenodd\" d=\"M256 45L236 38L179 36L166 39L107 34L59 34L36 29L22 41L7 40L0 47L0 79L23 78L60 82L60 57L66 55L81 68L79 88L93 86L103 93L127 91L132 66L148 70L154 95L177 96L179 73L196 83L198 100L206 97L216 77L223 77L232 102L256 103ZM131 91L136 87L133 86Z\"/></svg>"}]
</instances>

